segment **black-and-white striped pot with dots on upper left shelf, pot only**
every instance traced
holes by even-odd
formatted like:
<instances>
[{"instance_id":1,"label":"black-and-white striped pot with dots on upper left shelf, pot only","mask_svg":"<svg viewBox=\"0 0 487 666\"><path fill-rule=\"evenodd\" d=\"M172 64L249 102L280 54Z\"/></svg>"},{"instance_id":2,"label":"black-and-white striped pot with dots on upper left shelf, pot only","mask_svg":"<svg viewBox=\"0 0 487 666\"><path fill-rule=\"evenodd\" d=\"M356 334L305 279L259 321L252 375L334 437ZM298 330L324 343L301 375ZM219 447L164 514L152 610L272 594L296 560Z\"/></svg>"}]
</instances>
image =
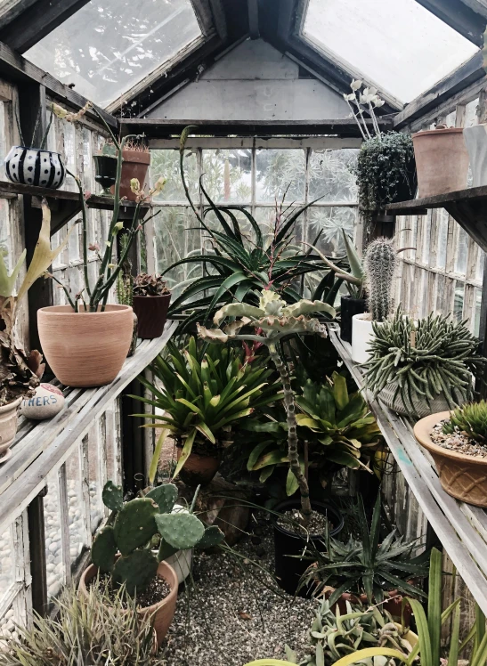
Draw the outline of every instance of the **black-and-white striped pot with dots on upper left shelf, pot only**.
<instances>
[{"instance_id":1,"label":"black-and-white striped pot with dots on upper left shelf, pot only","mask_svg":"<svg viewBox=\"0 0 487 666\"><path fill-rule=\"evenodd\" d=\"M57 190L66 175L61 155L52 150L13 146L4 162L5 173L12 183Z\"/></svg>"}]
</instances>

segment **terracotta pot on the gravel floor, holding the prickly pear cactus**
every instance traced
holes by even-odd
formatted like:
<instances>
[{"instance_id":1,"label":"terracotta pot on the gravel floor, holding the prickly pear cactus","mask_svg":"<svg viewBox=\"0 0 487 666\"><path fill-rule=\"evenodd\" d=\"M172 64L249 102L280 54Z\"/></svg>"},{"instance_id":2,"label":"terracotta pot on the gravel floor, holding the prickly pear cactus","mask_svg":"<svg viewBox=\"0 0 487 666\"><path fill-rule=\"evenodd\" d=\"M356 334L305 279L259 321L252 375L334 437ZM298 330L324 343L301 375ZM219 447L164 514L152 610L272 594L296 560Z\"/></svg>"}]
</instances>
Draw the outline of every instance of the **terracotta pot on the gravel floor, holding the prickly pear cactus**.
<instances>
[{"instance_id":1,"label":"terracotta pot on the gravel floor, holding the prickly pear cactus","mask_svg":"<svg viewBox=\"0 0 487 666\"><path fill-rule=\"evenodd\" d=\"M94 564L90 564L88 568L85 569L79 581L79 591L81 594L87 596L87 586L97 573L98 568ZM175 614L178 581L175 570L166 562L159 563L157 575L159 578L166 581L171 588L171 591L165 599L159 601L157 604L141 608L139 613L142 617L148 617L151 619L152 626L156 631L158 646L160 646L164 638L166 638L167 629L171 626Z\"/></svg>"}]
</instances>

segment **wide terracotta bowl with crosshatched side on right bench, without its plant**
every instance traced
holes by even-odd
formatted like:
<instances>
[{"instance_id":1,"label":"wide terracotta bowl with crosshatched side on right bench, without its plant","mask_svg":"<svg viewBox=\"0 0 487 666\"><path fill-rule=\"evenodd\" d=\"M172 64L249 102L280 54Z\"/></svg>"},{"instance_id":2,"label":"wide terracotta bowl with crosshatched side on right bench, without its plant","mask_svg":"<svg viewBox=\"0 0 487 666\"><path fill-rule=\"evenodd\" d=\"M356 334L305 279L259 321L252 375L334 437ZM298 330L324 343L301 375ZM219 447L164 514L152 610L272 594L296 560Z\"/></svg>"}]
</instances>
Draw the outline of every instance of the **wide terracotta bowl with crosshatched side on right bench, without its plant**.
<instances>
[{"instance_id":1,"label":"wide terracotta bowl with crosshatched side on right bench, without its plant","mask_svg":"<svg viewBox=\"0 0 487 666\"><path fill-rule=\"evenodd\" d=\"M444 491L475 507L487 507L487 459L466 456L432 442L431 431L446 418L450 418L450 411L421 418L414 426L414 435L433 456Z\"/></svg>"}]
</instances>

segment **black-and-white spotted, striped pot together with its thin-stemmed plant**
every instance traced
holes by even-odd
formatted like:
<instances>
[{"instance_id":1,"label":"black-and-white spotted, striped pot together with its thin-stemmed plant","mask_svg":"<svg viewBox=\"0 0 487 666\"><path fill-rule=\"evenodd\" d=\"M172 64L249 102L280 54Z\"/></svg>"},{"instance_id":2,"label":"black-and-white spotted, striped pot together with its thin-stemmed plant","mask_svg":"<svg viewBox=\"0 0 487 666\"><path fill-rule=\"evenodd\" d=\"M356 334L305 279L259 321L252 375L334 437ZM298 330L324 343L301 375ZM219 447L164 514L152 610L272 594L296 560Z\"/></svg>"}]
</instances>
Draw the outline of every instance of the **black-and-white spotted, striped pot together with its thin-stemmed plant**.
<instances>
[{"instance_id":1,"label":"black-and-white spotted, striped pot together with its thin-stemmed plant","mask_svg":"<svg viewBox=\"0 0 487 666\"><path fill-rule=\"evenodd\" d=\"M79 110L76 114L70 114L73 120L78 120L85 115L87 106ZM50 190L57 190L64 183L66 168L62 163L61 155L53 150L45 149L45 142L51 125L53 124L53 106L51 107L51 116L45 128L43 136L39 137L40 148L35 148L37 135L41 126L41 115L44 110L41 108L37 114L36 124L30 142L26 142L20 129L19 117L16 114L17 126L20 134L20 146L12 146L4 159L5 175L12 183L22 183L34 185L36 187L46 187ZM28 147L26 147L28 146Z\"/></svg>"}]
</instances>

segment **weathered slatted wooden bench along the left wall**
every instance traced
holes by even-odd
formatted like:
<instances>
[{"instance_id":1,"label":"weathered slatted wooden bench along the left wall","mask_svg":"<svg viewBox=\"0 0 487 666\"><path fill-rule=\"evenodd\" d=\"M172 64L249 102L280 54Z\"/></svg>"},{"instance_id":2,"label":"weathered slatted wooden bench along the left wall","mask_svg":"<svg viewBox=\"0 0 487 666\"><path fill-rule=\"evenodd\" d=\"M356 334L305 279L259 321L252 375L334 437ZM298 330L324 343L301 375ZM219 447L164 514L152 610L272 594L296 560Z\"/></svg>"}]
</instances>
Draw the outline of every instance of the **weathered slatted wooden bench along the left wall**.
<instances>
[{"instance_id":1,"label":"weathered slatted wooden bench along the left wall","mask_svg":"<svg viewBox=\"0 0 487 666\"><path fill-rule=\"evenodd\" d=\"M47 475L69 458L93 421L162 351L176 327L177 321L168 321L161 337L143 340L108 386L67 388L64 409L55 417L20 418L12 457L0 466L0 533L42 491Z\"/></svg>"}]
</instances>

